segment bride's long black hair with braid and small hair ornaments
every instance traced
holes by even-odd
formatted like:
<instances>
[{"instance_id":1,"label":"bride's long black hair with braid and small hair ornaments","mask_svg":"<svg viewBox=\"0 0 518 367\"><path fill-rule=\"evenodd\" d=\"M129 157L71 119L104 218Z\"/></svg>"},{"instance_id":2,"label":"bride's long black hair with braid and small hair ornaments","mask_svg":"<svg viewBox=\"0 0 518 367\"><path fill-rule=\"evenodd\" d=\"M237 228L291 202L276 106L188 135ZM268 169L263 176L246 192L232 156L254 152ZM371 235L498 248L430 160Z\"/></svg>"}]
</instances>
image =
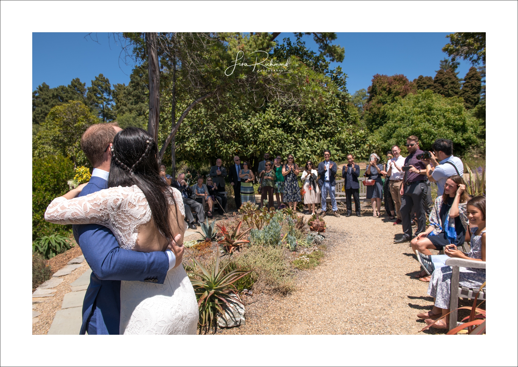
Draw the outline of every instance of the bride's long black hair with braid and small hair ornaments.
<instances>
[{"instance_id":1,"label":"bride's long black hair with braid and small hair ornaments","mask_svg":"<svg viewBox=\"0 0 518 367\"><path fill-rule=\"evenodd\" d=\"M157 154L156 142L146 130L126 128L119 131L113 138L108 187L137 185L146 196L155 227L171 241L174 235L169 225L169 198L173 202L175 199L159 175Z\"/></svg>"}]
</instances>

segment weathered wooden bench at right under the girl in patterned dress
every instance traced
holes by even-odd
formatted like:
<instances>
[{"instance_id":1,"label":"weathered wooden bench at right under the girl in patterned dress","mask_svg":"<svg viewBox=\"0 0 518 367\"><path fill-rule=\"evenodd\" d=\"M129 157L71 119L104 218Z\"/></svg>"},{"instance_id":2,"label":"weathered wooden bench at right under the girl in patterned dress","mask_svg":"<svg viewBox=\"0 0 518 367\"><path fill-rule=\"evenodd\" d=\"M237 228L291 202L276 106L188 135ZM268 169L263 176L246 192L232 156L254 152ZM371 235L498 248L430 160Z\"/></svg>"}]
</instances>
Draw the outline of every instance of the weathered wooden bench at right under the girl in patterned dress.
<instances>
[{"instance_id":1,"label":"weathered wooden bench at right under the girl in patterned dress","mask_svg":"<svg viewBox=\"0 0 518 367\"><path fill-rule=\"evenodd\" d=\"M485 261L475 261L475 260L467 260L467 259L459 259L459 258L451 258L446 260L446 266L452 267L452 278L450 285L450 324L449 329L457 327L457 307L458 307L458 298L468 298L474 300L475 295L479 291L478 288L465 288L459 287L459 267L473 267L475 269L485 269ZM479 297L477 300L483 301L486 299L486 290L485 288L479 293Z\"/></svg>"}]
</instances>

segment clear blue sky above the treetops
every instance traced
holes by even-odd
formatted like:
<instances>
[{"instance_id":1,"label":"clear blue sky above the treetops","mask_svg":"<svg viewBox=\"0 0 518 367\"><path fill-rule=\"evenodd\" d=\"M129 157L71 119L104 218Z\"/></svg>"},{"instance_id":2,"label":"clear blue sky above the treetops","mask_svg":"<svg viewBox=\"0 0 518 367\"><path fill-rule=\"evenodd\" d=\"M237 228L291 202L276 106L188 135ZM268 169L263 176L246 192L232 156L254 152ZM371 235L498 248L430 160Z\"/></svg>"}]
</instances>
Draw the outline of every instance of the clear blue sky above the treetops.
<instances>
[{"instance_id":1,"label":"clear blue sky above the treetops","mask_svg":"<svg viewBox=\"0 0 518 367\"><path fill-rule=\"evenodd\" d=\"M435 76L439 61L446 54L441 48L448 43L446 33L338 33L335 44L346 50L340 65L348 74L347 89L353 94L370 85L375 74L404 74L413 80L420 75ZM98 43L85 37L87 33L33 33L33 86L43 82L51 88L67 85L80 78L87 87L103 74L110 83L127 83L133 64L119 60L121 47L108 33L97 33ZM95 34L93 34L95 38ZM277 40L294 39L293 33L281 33ZM318 51L312 36L304 36L306 45ZM461 62L457 71L463 78L471 65Z\"/></svg>"}]
</instances>

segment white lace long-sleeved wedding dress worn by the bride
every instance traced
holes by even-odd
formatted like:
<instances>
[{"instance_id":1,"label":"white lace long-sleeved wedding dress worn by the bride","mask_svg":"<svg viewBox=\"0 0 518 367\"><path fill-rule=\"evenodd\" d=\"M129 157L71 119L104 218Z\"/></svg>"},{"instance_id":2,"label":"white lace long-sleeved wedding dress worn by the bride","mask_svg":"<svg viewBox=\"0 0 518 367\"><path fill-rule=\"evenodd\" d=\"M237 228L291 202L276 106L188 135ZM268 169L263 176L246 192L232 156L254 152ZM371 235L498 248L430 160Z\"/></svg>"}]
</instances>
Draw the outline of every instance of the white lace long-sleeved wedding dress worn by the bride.
<instances>
[{"instance_id":1,"label":"white lace long-sleeved wedding dress worn by the bride","mask_svg":"<svg viewBox=\"0 0 518 367\"><path fill-rule=\"evenodd\" d=\"M180 192L170 189L179 212L185 216ZM175 205L172 200L169 204ZM146 196L134 185L112 187L71 200L56 197L48 206L45 219L57 224L103 225L113 232L120 247L132 250L139 226L152 220L152 216ZM196 296L183 266L171 269L164 284L121 281L120 334L196 334L197 322Z\"/></svg>"}]
</instances>

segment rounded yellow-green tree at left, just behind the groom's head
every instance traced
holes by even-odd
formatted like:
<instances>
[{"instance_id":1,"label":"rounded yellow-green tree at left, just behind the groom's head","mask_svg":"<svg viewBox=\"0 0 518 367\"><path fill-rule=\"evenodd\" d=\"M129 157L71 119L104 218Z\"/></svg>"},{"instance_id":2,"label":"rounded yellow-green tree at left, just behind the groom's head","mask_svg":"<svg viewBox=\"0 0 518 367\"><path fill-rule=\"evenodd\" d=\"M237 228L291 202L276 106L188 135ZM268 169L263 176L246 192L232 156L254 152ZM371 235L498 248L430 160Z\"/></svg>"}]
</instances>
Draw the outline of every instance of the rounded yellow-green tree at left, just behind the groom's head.
<instances>
[{"instance_id":1,"label":"rounded yellow-green tree at left, just behind the groom's head","mask_svg":"<svg viewBox=\"0 0 518 367\"><path fill-rule=\"evenodd\" d=\"M33 139L33 157L61 154L69 158L74 167L90 166L81 150L81 135L88 126L98 122L97 117L82 102L69 101L53 107Z\"/></svg>"}]
</instances>

